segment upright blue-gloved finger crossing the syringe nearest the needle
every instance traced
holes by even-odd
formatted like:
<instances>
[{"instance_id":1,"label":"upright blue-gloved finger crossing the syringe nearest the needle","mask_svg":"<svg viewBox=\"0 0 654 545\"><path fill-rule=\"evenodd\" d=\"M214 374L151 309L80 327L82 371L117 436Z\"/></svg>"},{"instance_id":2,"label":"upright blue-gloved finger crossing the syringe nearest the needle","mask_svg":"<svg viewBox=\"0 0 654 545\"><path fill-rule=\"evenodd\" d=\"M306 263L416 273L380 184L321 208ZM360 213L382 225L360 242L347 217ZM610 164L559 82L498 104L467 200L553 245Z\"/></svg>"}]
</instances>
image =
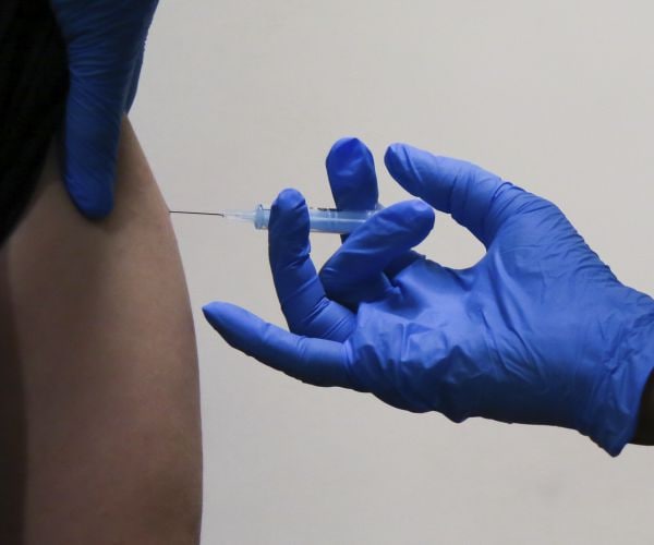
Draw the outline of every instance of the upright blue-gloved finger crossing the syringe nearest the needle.
<instances>
[{"instance_id":1,"label":"upright blue-gloved finger crossing the syringe nearest the needle","mask_svg":"<svg viewBox=\"0 0 654 545\"><path fill-rule=\"evenodd\" d=\"M311 261L308 210L295 190L282 191L270 209L268 255L277 296L289 329L342 341L354 329L354 316L329 301Z\"/></svg>"}]
</instances>

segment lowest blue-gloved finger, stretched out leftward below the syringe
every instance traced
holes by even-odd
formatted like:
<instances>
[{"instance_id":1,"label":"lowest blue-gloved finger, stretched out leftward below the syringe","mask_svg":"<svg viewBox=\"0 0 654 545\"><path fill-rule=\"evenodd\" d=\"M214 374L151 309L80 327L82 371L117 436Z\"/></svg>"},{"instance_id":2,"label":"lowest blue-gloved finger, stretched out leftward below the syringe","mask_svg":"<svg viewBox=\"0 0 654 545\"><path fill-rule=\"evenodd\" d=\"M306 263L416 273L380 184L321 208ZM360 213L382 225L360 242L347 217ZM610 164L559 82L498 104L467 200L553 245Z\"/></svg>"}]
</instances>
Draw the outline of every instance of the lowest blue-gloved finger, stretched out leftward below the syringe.
<instances>
[{"instance_id":1,"label":"lowest blue-gloved finger, stretched out leftward below the syringe","mask_svg":"<svg viewBox=\"0 0 654 545\"><path fill-rule=\"evenodd\" d=\"M210 303L203 312L231 347L275 370L315 386L361 390L340 342L290 334L229 303Z\"/></svg>"}]
</instances>

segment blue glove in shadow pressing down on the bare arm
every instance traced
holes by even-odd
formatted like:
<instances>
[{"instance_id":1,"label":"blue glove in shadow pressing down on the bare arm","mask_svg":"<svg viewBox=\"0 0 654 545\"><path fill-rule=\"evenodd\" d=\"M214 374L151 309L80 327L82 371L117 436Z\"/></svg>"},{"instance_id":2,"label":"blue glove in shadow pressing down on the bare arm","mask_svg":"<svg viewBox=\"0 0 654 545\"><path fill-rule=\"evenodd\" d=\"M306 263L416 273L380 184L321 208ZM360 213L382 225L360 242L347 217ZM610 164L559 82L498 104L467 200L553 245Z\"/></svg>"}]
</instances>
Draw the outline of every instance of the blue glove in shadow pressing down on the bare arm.
<instances>
[{"instance_id":1,"label":"blue glove in shadow pressing down on the bare arm","mask_svg":"<svg viewBox=\"0 0 654 545\"><path fill-rule=\"evenodd\" d=\"M113 207L121 119L136 95L158 0L51 0L68 47L71 87L63 129L63 175L89 218Z\"/></svg>"}]
</instances>

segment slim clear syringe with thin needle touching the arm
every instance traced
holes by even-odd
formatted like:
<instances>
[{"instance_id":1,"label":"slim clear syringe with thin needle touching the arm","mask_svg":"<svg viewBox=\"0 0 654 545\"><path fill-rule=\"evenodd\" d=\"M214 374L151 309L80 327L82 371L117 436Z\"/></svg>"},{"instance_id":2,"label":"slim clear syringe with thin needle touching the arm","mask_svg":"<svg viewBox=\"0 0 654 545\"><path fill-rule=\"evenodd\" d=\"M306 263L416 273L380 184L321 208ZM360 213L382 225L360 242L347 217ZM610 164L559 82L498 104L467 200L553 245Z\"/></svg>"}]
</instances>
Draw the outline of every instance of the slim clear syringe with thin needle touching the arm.
<instances>
[{"instance_id":1,"label":"slim clear syringe with thin needle touching the arm","mask_svg":"<svg viewBox=\"0 0 654 545\"><path fill-rule=\"evenodd\" d=\"M351 233L378 210L337 210L335 208L308 208L310 229L319 233ZM193 214L197 216L219 216L254 223L255 229L268 229L270 208L258 205L254 210L185 211L170 210L170 214Z\"/></svg>"}]
</instances>

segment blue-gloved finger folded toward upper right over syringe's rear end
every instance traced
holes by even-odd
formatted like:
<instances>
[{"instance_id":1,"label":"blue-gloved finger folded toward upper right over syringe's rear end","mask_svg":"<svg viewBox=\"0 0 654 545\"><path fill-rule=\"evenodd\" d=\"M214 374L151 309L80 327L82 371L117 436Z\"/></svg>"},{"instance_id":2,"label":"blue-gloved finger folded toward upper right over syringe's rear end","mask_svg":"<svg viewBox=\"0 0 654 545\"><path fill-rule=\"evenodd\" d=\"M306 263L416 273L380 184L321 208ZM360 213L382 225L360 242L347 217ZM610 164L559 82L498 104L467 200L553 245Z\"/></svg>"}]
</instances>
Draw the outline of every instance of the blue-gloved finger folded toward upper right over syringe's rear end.
<instances>
[{"instance_id":1,"label":"blue-gloved finger folded toward upper right over syringe's rear end","mask_svg":"<svg viewBox=\"0 0 654 545\"><path fill-rule=\"evenodd\" d=\"M399 271L422 258L411 249L434 228L434 210L422 201L405 201L385 208L336 251L320 270L328 296L355 306L383 298L392 284L386 270Z\"/></svg>"}]
</instances>

